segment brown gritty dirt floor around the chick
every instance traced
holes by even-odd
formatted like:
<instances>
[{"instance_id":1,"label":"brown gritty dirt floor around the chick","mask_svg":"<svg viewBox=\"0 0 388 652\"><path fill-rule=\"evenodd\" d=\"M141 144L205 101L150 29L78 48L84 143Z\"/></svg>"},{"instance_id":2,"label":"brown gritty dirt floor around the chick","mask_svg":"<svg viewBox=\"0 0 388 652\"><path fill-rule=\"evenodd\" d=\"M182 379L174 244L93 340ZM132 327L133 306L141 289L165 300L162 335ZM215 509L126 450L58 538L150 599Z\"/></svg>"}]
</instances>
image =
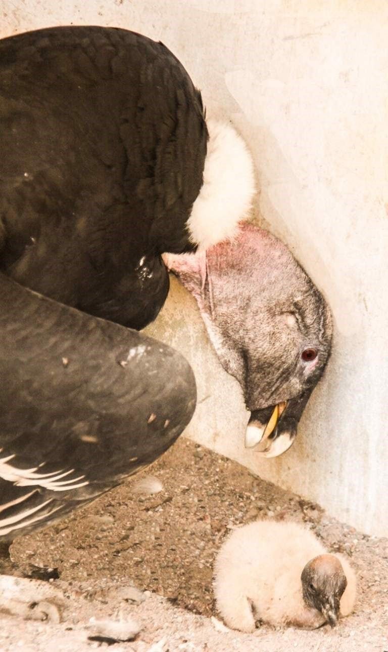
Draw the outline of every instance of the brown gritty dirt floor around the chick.
<instances>
[{"instance_id":1,"label":"brown gritty dirt floor around the chick","mask_svg":"<svg viewBox=\"0 0 388 652\"><path fill-rule=\"evenodd\" d=\"M138 623L135 639L114 644L113 652L388 651L387 539L340 524L318 505L188 439L143 475L150 474L163 484L157 494L136 492L138 475L70 518L14 542L15 561L59 569L61 578L47 587L63 595L62 622L4 615L2 652L105 649L112 639L88 636L98 634L95 620L107 618L124 629L128 619ZM263 625L255 634L223 627L212 593L215 554L230 529L262 517L305 522L329 550L350 557L358 599L339 627L309 632Z\"/></svg>"}]
</instances>

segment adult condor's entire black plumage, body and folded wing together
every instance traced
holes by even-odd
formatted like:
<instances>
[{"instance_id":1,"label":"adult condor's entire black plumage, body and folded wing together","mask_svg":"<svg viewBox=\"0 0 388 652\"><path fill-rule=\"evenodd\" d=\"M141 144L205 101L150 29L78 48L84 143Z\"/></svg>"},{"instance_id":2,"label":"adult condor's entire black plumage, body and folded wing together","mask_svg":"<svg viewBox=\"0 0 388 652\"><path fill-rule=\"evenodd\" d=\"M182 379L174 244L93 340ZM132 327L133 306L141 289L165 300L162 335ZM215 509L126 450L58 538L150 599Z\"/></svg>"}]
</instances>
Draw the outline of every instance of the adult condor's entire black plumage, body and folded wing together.
<instances>
[{"instance_id":1,"label":"adult condor's entire black plumage, body and folded wing together","mask_svg":"<svg viewBox=\"0 0 388 652\"><path fill-rule=\"evenodd\" d=\"M161 253L194 248L207 138L161 43L102 27L0 41L0 540L150 464L191 419L189 364L122 326L163 305Z\"/></svg>"}]
</instances>

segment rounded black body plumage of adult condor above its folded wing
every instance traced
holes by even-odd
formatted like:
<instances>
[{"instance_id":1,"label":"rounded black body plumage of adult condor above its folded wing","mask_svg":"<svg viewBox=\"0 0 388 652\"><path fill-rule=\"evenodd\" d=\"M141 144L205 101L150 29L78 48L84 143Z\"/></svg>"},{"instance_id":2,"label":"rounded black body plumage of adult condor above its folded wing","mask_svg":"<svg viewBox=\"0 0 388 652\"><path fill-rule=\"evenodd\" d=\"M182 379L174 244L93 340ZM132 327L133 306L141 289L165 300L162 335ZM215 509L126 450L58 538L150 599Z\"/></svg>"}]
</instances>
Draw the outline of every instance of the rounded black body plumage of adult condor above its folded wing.
<instances>
[{"instance_id":1,"label":"rounded black body plumage of adult condor above its folded wing","mask_svg":"<svg viewBox=\"0 0 388 652\"><path fill-rule=\"evenodd\" d=\"M202 185L201 95L161 43L59 27L0 41L1 269L141 329L190 250Z\"/></svg>"}]
</instances>

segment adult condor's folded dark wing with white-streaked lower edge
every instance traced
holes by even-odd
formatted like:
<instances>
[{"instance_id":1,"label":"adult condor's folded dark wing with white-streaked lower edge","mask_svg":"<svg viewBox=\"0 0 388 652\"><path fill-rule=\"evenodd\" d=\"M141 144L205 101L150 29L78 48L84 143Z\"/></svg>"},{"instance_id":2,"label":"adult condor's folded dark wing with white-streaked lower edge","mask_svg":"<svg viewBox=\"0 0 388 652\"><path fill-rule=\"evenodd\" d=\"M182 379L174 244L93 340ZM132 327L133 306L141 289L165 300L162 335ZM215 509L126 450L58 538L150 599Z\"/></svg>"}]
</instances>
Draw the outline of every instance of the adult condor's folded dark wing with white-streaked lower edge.
<instances>
[{"instance_id":1,"label":"adult condor's folded dark wing with white-streaked lower edge","mask_svg":"<svg viewBox=\"0 0 388 652\"><path fill-rule=\"evenodd\" d=\"M0 299L0 539L12 541L153 462L196 392L184 357L157 340L4 276Z\"/></svg>"}]
</instances>

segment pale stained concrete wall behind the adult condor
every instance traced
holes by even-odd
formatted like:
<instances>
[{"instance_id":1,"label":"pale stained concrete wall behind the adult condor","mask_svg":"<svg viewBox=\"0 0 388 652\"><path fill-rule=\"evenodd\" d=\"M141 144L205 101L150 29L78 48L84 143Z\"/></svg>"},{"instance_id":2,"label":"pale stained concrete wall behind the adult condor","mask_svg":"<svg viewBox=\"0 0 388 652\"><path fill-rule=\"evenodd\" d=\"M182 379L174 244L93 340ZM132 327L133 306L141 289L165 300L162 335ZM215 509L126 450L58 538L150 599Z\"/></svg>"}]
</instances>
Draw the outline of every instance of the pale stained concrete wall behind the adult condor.
<instances>
[{"instance_id":1,"label":"pale stained concrete wall behind the adult condor","mask_svg":"<svg viewBox=\"0 0 388 652\"><path fill-rule=\"evenodd\" d=\"M388 535L388 5L385 0L3 0L1 35L68 23L161 39L255 156L264 224L324 291L335 348L296 444L243 449L237 383L176 282L150 333L193 364L188 434L364 531Z\"/></svg>"}]
</instances>

